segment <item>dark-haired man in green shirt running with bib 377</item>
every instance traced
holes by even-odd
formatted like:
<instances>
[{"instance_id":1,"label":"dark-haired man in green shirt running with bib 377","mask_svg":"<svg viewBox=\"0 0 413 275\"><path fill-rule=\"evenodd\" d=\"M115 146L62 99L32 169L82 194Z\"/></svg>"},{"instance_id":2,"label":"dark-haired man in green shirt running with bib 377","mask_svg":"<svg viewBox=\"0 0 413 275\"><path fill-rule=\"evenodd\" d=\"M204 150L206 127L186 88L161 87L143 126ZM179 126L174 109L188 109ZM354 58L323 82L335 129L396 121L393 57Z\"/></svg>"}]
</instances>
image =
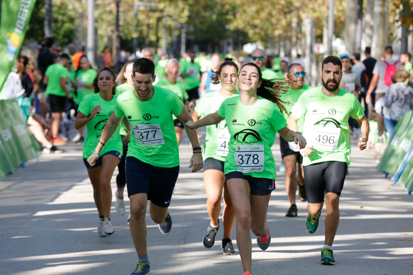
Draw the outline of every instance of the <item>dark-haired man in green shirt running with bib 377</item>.
<instances>
[{"instance_id":1,"label":"dark-haired man in green shirt running with bib 377","mask_svg":"<svg viewBox=\"0 0 413 275\"><path fill-rule=\"evenodd\" d=\"M172 115L186 123L192 121L188 110L178 96L167 89L153 86L154 63L140 58L133 63L132 78L135 89L128 90L116 99L115 110L107 120L100 141L95 149L100 153L104 143L116 131L122 118L131 123L131 142L126 156L126 184L131 201L131 235L139 261L132 275L145 275L150 270L147 256L147 228L145 214L150 200L150 216L158 223L162 234L172 227L168 212L173 188L179 173L178 141ZM192 172L203 167L202 151L196 130L185 128L194 154L190 160ZM103 144L102 144L103 143ZM93 153L90 165L99 157Z\"/></svg>"}]
</instances>

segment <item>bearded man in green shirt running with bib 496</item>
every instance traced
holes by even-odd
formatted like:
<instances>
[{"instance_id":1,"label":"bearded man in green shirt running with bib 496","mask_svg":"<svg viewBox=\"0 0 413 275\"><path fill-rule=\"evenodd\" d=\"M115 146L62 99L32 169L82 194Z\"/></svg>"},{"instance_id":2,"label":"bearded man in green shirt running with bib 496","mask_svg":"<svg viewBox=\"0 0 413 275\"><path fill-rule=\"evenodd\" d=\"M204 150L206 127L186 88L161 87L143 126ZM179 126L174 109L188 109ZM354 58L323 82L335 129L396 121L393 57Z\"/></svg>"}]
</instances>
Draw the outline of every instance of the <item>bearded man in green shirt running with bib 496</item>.
<instances>
[{"instance_id":1,"label":"bearded man in green shirt running with bib 496","mask_svg":"<svg viewBox=\"0 0 413 275\"><path fill-rule=\"evenodd\" d=\"M320 76L323 85L304 92L291 110L288 125L297 130L297 121L304 118L303 136L307 146L300 149L304 157L304 178L309 212L306 228L316 232L324 195L325 240L321 264L334 265L332 244L339 223L339 200L350 164L349 115L361 125L360 150L366 149L369 124L364 109L354 94L339 88L342 63L337 56L323 60ZM294 129L295 127L295 129Z\"/></svg>"}]
</instances>

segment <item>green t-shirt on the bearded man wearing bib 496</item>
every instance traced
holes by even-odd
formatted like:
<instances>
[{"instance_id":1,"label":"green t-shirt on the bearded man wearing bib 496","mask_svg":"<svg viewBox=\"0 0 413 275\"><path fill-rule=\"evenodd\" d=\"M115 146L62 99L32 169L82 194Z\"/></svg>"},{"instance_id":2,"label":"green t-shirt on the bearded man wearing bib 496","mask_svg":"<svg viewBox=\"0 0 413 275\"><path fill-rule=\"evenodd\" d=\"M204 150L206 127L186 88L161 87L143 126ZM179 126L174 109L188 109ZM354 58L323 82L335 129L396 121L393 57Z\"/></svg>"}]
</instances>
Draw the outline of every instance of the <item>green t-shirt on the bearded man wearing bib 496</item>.
<instances>
[{"instance_id":1,"label":"green t-shirt on the bearded man wearing bib 496","mask_svg":"<svg viewBox=\"0 0 413 275\"><path fill-rule=\"evenodd\" d=\"M296 118L304 118L303 136L307 143L319 146L304 157L303 165L326 161L350 164L349 115L361 119L364 109L353 94L340 89L337 96L326 96L321 87L304 92L291 110Z\"/></svg>"}]
</instances>

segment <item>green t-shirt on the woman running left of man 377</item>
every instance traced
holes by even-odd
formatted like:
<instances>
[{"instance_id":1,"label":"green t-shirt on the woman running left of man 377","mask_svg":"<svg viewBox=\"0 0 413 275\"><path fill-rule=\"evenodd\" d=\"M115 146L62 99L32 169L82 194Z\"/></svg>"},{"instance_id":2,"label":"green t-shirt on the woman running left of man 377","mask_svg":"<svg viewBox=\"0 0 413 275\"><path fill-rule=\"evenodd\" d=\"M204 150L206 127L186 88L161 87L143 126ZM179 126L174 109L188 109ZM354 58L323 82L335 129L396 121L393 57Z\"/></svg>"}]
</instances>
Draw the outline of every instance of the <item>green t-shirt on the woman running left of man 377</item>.
<instances>
[{"instance_id":1,"label":"green t-shirt on the woman running left of man 377","mask_svg":"<svg viewBox=\"0 0 413 275\"><path fill-rule=\"evenodd\" d=\"M85 142L83 143L83 157L88 158L97 146L102 130L110 115L112 115L115 108L116 96L113 96L111 101L105 101L100 97L100 94L88 94L79 104L78 111L83 115L88 116L92 113L96 105L100 105L102 110L95 115L95 117L86 124L88 133L86 134ZM119 127L116 129L112 137L103 146L100 155L104 155L109 151L117 151L122 154L123 144L119 134Z\"/></svg>"}]
</instances>

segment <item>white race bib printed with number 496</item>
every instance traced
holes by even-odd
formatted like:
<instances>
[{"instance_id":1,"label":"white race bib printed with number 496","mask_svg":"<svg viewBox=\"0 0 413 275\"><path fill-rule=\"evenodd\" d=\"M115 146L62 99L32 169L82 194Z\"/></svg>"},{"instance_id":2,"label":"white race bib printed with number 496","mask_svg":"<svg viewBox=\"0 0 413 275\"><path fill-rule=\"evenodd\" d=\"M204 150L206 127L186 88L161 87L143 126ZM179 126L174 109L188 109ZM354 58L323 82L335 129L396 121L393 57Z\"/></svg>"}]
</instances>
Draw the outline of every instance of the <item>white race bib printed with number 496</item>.
<instances>
[{"instance_id":1,"label":"white race bib printed with number 496","mask_svg":"<svg viewBox=\"0 0 413 275\"><path fill-rule=\"evenodd\" d=\"M308 141L313 144L313 148L330 152L337 150L341 128L314 125L311 130Z\"/></svg>"}]
</instances>

